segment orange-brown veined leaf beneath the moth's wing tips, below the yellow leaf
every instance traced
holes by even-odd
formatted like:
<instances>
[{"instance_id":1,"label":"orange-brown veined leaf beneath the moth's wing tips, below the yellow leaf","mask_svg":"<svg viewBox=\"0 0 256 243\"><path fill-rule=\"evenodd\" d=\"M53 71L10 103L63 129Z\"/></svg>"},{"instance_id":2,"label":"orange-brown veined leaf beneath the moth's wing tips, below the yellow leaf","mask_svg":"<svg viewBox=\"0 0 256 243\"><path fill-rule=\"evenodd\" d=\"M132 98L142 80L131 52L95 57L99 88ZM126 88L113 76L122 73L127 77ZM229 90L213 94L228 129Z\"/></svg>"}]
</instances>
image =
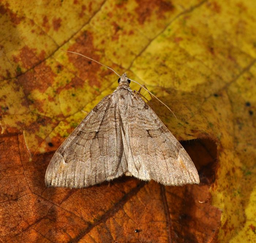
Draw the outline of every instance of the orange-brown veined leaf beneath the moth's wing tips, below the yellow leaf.
<instances>
[{"instance_id":1,"label":"orange-brown veined leaf beneath the moth's wing tips, below the yellow leaf","mask_svg":"<svg viewBox=\"0 0 256 243\"><path fill-rule=\"evenodd\" d=\"M214 159L205 142L192 145L205 151L197 159L208 171L196 166L211 183ZM122 177L87 189L46 189L44 171L52 153L31 160L22 135L1 138L0 145L1 234L6 242L206 242L218 228L220 211L199 202L207 199L210 183L163 187ZM189 151L191 145L185 147Z\"/></svg>"}]
</instances>

